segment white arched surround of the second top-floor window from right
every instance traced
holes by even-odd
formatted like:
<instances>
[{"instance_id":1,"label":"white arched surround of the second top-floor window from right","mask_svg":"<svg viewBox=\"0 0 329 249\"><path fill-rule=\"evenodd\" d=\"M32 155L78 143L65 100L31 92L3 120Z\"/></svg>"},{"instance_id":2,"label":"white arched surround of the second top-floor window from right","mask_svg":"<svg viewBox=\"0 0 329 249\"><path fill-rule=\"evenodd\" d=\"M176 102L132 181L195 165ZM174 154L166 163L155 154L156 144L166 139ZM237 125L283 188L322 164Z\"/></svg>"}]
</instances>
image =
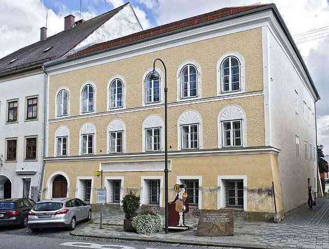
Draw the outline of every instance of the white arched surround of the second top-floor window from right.
<instances>
[{"instance_id":1,"label":"white arched surround of the second top-floor window from right","mask_svg":"<svg viewBox=\"0 0 329 249\"><path fill-rule=\"evenodd\" d=\"M192 65L196 69L196 96L192 96L192 97L183 97L181 91L181 73L183 68L185 68L187 65ZM191 100L202 98L201 66L199 63L194 61L185 61L181 63L177 68L176 78L177 78L177 101L183 102L183 101L191 101Z\"/></svg>"}]
</instances>

